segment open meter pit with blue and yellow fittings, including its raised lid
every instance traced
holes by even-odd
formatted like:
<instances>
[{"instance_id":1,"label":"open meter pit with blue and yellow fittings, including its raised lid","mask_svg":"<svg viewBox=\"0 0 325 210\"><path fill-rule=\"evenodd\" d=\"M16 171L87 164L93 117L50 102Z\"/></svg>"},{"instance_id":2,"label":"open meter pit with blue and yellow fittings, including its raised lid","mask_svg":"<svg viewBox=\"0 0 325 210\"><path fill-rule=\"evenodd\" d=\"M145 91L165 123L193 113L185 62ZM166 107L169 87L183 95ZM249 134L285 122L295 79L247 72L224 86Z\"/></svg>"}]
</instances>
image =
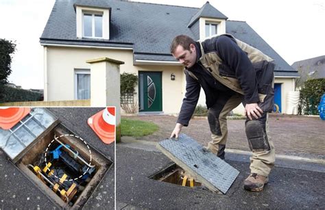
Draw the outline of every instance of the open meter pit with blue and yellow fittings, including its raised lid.
<instances>
[{"instance_id":1,"label":"open meter pit with blue and yellow fittings, including its raised lid","mask_svg":"<svg viewBox=\"0 0 325 210\"><path fill-rule=\"evenodd\" d=\"M12 129L0 129L0 147L64 209L83 207L113 165L43 108L32 109Z\"/></svg>"}]
</instances>

